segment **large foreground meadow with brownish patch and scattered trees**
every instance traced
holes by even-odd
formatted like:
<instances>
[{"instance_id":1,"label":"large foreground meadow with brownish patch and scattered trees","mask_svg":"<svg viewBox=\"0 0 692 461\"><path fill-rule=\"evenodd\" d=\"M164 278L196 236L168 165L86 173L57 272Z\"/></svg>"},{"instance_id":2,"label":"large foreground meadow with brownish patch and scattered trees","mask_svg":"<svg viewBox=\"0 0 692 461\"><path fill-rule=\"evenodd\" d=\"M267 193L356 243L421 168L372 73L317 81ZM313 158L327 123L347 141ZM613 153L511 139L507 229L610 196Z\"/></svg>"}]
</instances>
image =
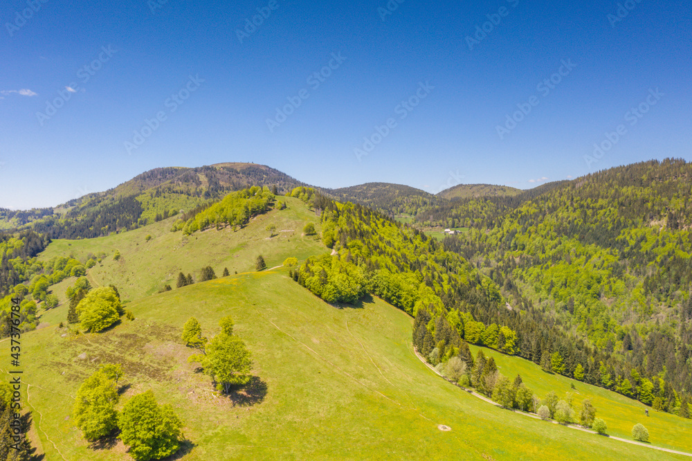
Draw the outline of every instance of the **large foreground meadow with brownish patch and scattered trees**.
<instances>
[{"instance_id":1,"label":"large foreground meadow with brownish patch and scattered trees","mask_svg":"<svg viewBox=\"0 0 692 461\"><path fill-rule=\"evenodd\" d=\"M176 459L662 458L486 404L417 359L412 319L402 311L377 299L337 309L284 269L174 289L129 309L136 320L102 334L71 338L52 325L24 335L24 380L46 459L130 459L119 442L89 449L70 418L71 396L105 361L125 369L121 407L152 389L183 417L190 444ZM229 314L253 352L258 377L248 394L234 397L235 405L214 395L210 380L185 362L193 351L179 341L190 316L212 336Z\"/></svg>"}]
</instances>

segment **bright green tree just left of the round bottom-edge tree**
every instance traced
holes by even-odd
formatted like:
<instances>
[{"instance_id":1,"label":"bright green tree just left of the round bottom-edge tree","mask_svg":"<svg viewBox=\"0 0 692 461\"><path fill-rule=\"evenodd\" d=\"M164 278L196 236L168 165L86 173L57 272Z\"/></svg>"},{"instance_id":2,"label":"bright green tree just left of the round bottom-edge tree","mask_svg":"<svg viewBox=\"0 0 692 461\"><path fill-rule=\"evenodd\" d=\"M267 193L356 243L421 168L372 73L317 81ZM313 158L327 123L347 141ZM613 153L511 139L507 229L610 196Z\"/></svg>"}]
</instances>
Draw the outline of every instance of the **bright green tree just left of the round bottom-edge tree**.
<instances>
[{"instance_id":1,"label":"bright green tree just left of the round bottom-edge tree","mask_svg":"<svg viewBox=\"0 0 692 461\"><path fill-rule=\"evenodd\" d=\"M77 391L73 417L86 440L100 439L116 428L118 417L115 406L118 403L117 382L120 377L120 365L102 365Z\"/></svg>"}]
</instances>

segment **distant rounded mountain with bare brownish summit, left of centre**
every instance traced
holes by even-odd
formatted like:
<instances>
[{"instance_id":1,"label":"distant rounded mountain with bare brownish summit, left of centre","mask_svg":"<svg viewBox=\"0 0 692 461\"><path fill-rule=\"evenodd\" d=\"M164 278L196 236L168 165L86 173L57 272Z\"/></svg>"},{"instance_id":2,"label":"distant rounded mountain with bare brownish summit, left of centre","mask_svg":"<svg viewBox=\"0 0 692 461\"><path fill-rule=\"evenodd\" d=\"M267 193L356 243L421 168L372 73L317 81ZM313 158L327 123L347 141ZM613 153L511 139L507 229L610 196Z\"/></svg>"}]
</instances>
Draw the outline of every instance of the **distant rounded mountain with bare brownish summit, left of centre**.
<instances>
[{"instance_id":1,"label":"distant rounded mountain with bare brownish summit, left of centre","mask_svg":"<svg viewBox=\"0 0 692 461\"><path fill-rule=\"evenodd\" d=\"M32 228L52 238L93 238L145 226L221 199L228 192L264 185L286 192L302 183L254 163L155 168L116 188L68 201L58 207L66 208L64 213L51 208L0 213L0 223L6 229Z\"/></svg>"}]
</instances>

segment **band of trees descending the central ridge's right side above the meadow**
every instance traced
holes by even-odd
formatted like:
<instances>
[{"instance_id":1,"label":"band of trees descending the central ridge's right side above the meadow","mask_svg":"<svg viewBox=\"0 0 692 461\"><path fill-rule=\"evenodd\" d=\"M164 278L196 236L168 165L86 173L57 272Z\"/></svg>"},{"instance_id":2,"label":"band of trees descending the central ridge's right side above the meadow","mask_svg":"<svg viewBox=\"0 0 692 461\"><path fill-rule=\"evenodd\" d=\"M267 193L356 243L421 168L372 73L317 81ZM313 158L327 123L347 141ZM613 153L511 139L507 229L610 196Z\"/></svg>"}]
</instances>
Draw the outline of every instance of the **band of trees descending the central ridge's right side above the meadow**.
<instances>
[{"instance_id":1,"label":"band of trees descending the central ridge's right side above the meadow","mask_svg":"<svg viewBox=\"0 0 692 461\"><path fill-rule=\"evenodd\" d=\"M368 208L317 197L318 194L312 200L321 204L322 241L336 249L337 254L309 258L293 273L295 280L316 295L329 302L354 302L364 293L372 293L413 316L424 308L430 315L425 325L427 334L418 331L414 337L422 334L419 338L424 340L429 336L428 346L438 346L441 340L436 332L441 328L455 332L460 339L517 354L547 370L609 388L645 404L653 405L658 397L662 409L679 413L689 389L684 379L689 375L683 372L684 379L676 381L667 372L671 355L682 354L679 347L676 354L666 356L666 347L670 352L670 347L678 343L664 346L666 342L659 336L650 336L651 342L647 342L621 329L623 338L629 334L628 347L635 352L620 354L602 347L581 332L570 331L554 311L546 309L545 298L540 303L525 295L520 284L513 281L511 271L504 275L491 264L468 264L459 254L464 241L449 238L440 244L419 230L394 223ZM527 243L536 246L536 237ZM513 264L518 266L521 259ZM549 264L542 270L549 271ZM581 300L567 299L563 311L568 312L572 302L578 311ZM687 307L683 310L689 311ZM602 318L597 320L603 323ZM605 325L617 328L614 322ZM689 330L685 331L689 337ZM648 347L650 354L638 345ZM449 351L437 348L441 354ZM644 363L632 360L639 353L637 356ZM686 366L677 358L673 360L680 363L671 368L673 372ZM659 365L648 365L656 361L660 361Z\"/></svg>"}]
</instances>

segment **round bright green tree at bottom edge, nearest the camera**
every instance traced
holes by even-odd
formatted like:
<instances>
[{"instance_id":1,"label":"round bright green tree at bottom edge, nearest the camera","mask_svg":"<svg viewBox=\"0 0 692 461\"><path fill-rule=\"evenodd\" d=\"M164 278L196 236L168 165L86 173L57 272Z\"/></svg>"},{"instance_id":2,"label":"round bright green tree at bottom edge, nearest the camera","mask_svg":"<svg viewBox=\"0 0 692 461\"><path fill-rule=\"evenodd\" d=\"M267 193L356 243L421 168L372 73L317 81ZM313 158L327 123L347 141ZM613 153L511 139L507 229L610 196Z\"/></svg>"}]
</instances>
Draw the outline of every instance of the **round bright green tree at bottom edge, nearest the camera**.
<instances>
[{"instance_id":1,"label":"round bright green tree at bottom edge, nearest the camera","mask_svg":"<svg viewBox=\"0 0 692 461\"><path fill-rule=\"evenodd\" d=\"M118 417L120 440L138 461L160 460L178 451L183 422L172 406L159 406L152 390L127 401Z\"/></svg>"}]
</instances>

